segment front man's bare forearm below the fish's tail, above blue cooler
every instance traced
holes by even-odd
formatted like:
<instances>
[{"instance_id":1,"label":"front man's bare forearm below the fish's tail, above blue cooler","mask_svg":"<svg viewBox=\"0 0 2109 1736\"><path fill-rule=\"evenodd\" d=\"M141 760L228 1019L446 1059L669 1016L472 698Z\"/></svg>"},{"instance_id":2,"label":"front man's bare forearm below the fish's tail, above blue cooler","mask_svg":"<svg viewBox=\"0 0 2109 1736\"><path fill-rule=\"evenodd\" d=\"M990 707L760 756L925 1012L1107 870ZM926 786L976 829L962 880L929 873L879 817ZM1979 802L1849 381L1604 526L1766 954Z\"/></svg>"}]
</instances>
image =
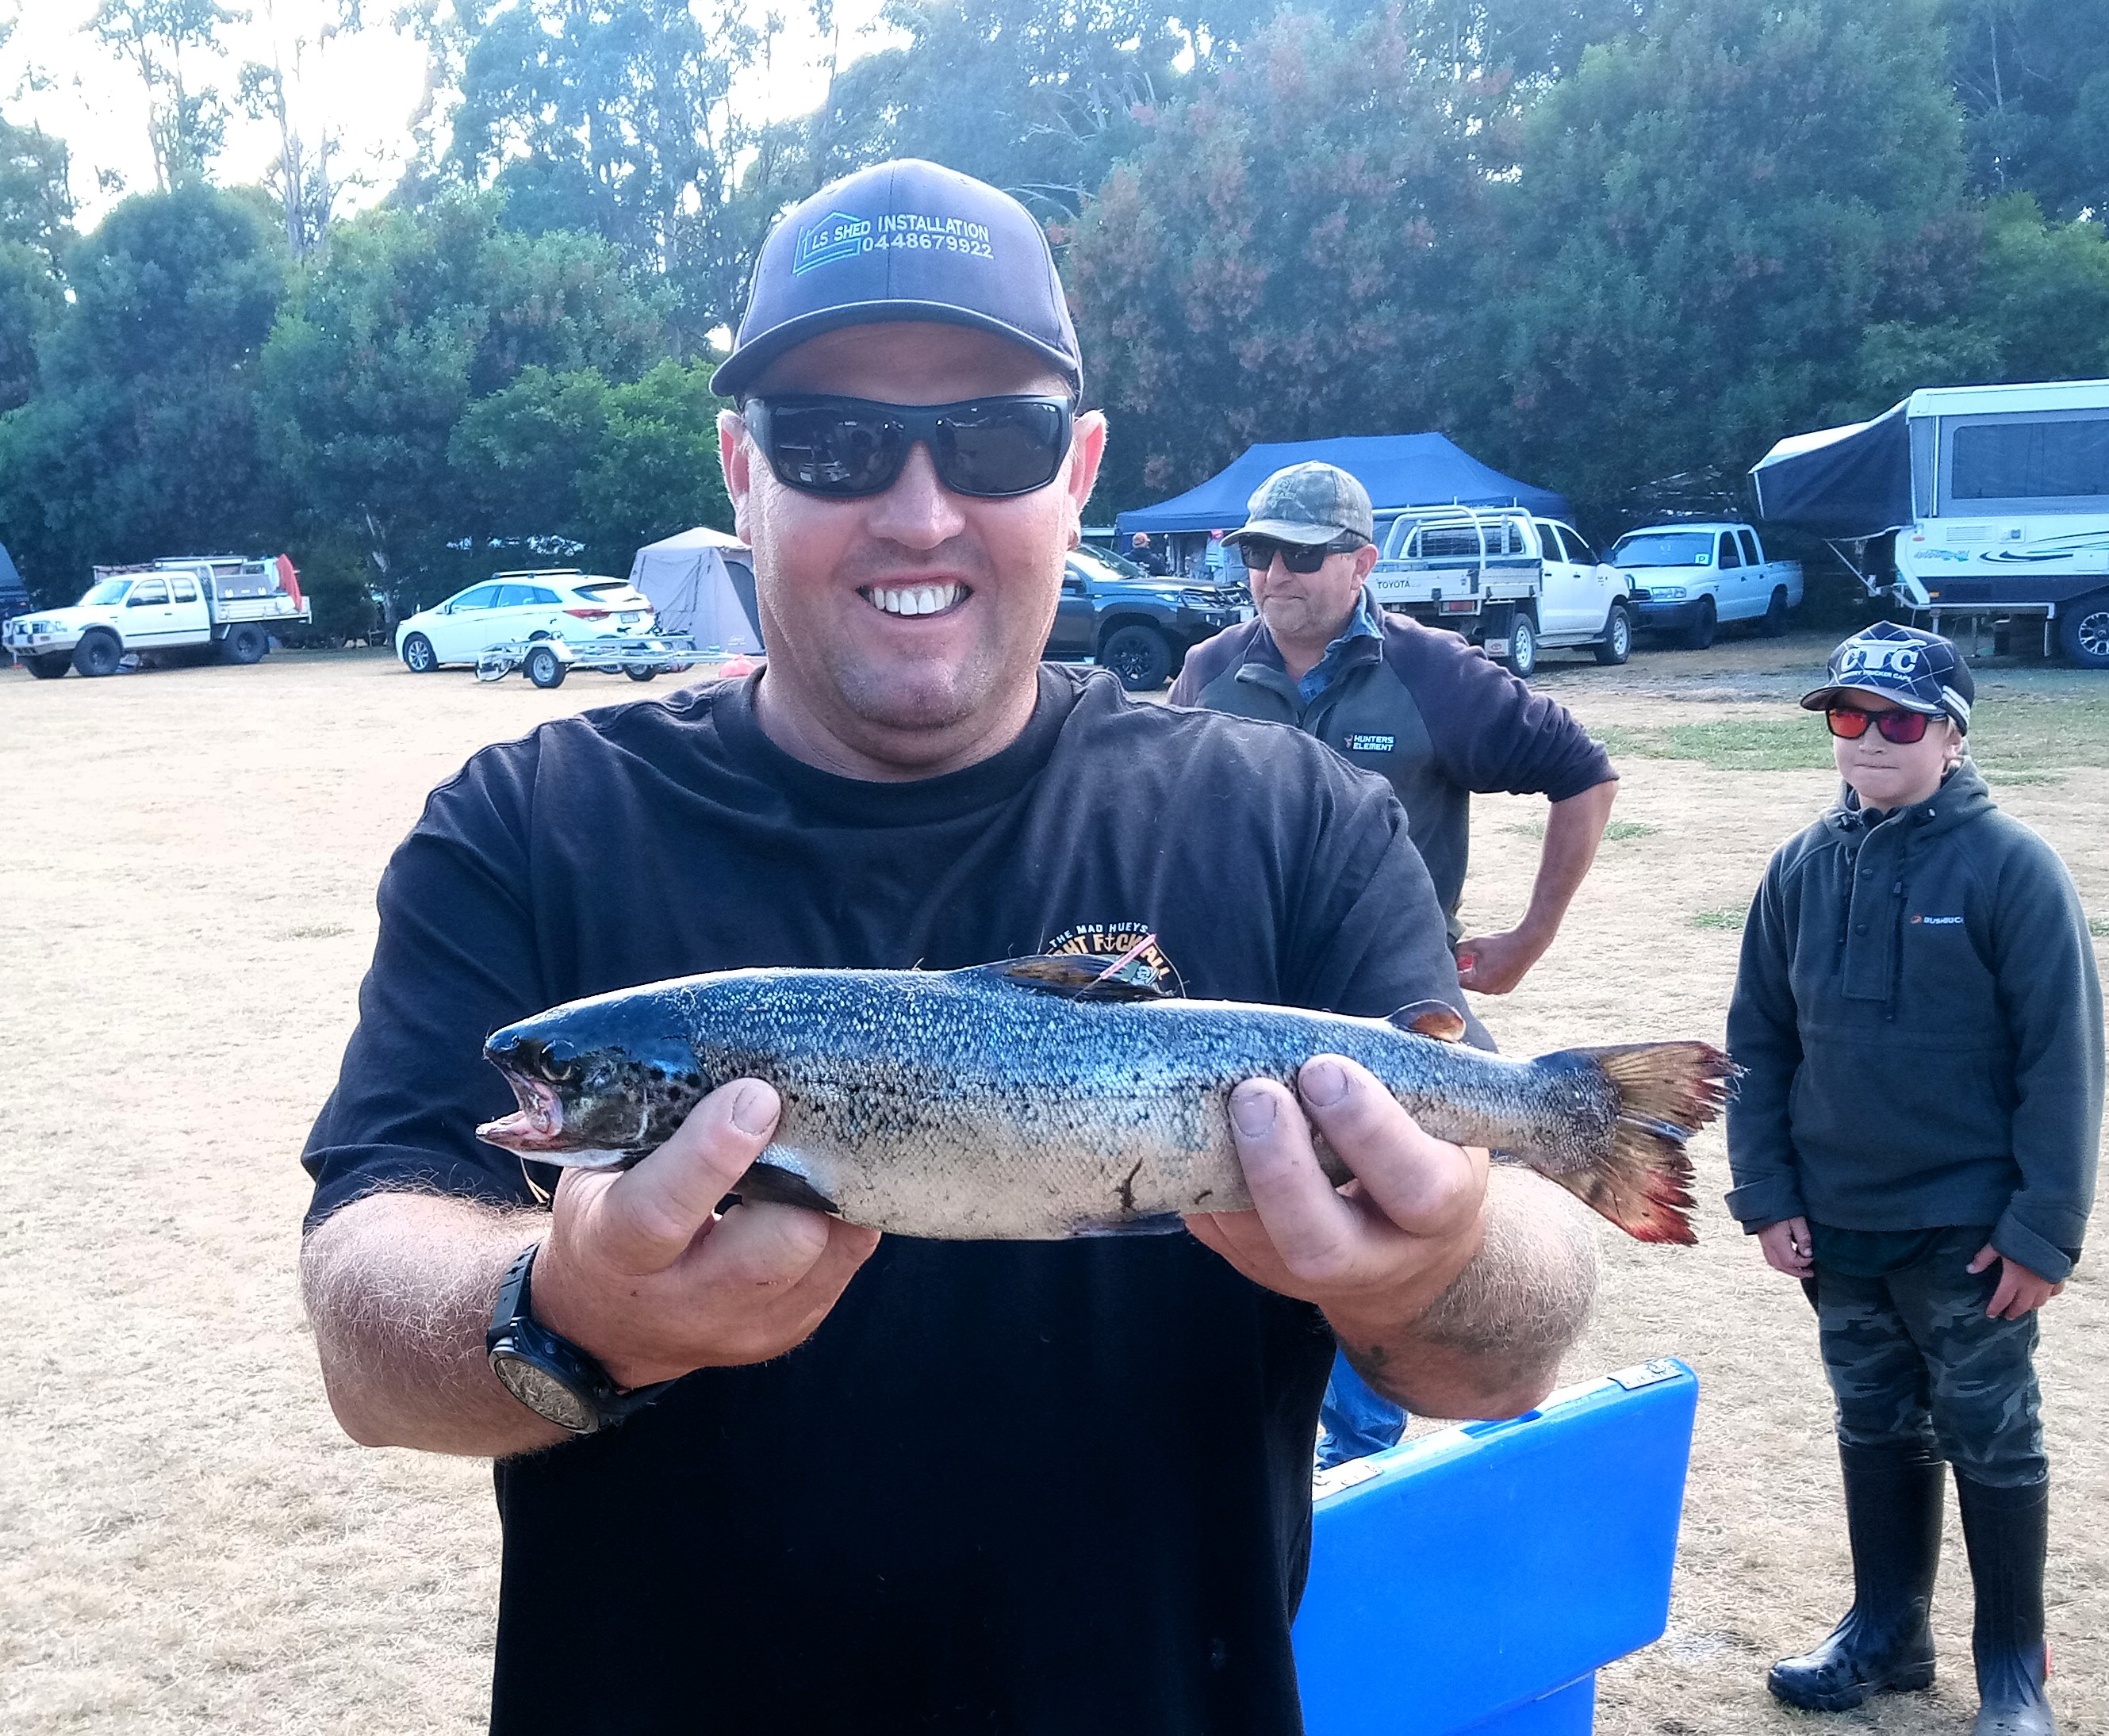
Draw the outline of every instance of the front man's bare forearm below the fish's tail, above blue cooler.
<instances>
[{"instance_id":1,"label":"front man's bare forearm below the fish's tail, above blue cooler","mask_svg":"<svg viewBox=\"0 0 2109 1736\"><path fill-rule=\"evenodd\" d=\"M1495 1166L1483 1226L1478 1253L1417 1318L1329 1312L1362 1380L1419 1415L1531 1409L1588 1323L1597 1245L1565 1192L1529 1171Z\"/></svg>"}]
</instances>

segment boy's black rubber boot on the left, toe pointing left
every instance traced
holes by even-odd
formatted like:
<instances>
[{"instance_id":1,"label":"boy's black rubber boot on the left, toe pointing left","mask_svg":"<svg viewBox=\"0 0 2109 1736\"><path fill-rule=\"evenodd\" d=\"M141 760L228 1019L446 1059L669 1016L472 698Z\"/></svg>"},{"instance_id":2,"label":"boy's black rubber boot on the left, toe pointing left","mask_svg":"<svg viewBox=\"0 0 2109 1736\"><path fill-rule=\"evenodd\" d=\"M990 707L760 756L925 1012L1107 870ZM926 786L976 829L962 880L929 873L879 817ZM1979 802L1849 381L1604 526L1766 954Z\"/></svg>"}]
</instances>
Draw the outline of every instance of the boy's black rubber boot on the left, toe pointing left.
<instances>
[{"instance_id":1,"label":"boy's black rubber boot on the left, toe pointing left","mask_svg":"<svg viewBox=\"0 0 2109 1736\"><path fill-rule=\"evenodd\" d=\"M1923 1447L1847 1447L1845 1527L1854 1599L1814 1652L1780 1658L1765 1685L1786 1704L1843 1713L1869 1694L1934 1681L1934 1576L1940 1571L1944 1466Z\"/></svg>"}]
</instances>

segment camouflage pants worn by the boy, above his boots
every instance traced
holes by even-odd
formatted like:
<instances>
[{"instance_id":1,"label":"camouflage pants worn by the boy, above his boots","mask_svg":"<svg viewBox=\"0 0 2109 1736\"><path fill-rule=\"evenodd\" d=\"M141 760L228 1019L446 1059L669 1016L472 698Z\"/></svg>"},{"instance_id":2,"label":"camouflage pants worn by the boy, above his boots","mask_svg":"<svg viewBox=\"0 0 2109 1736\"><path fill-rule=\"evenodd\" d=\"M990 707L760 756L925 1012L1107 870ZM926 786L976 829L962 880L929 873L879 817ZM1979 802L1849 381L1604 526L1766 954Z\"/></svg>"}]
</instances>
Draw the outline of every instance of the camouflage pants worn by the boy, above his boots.
<instances>
[{"instance_id":1,"label":"camouflage pants worn by the boy, above his boots","mask_svg":"<svg viewBox=\"0 0 2109 1736\"><path fill-rule=\"evenodd\" d=\"M1900 1272L1860 1278L1818 1266L1803 1289L1816 1304L1839 1441L1923 1445L1974 1483L2018 1489L2050 1474L2035 1314L1987 1318L1999 1266L1963 1270L1980 1247L1985 1232L1966 1230Z\"/></svg>"}]
</instances>

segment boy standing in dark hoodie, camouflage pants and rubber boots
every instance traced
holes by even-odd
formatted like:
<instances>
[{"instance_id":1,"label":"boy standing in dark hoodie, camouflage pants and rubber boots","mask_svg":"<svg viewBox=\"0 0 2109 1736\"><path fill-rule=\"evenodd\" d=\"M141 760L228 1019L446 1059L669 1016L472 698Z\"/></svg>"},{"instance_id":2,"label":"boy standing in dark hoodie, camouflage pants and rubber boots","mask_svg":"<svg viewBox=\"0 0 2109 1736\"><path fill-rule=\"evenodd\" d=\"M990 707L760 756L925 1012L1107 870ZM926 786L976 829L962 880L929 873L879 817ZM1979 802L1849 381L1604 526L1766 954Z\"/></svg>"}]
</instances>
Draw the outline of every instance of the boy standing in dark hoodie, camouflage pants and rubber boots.
<instances>
[{"instance_id":1,"label":"boy standing in dark hoodie, camouflage pants and rubber boots","mask_svg":"<svg viewBox=\"0 0 2109 1736\"><path fill-rule=\"evenodd\" d=\"M2035 1310L2094 1196L2103 1002L2065 865L1963 753L1972 696L1955 645L1877 622L1801 700L1847 789L1774 854L1744 928L1727 1202L1816 1304L1854 1557L1845 1620L1772 1692L1845 1711L1934 1679L1947 1460L1976 1736L2044 1736Z\"/></svg>"}]
</instances>

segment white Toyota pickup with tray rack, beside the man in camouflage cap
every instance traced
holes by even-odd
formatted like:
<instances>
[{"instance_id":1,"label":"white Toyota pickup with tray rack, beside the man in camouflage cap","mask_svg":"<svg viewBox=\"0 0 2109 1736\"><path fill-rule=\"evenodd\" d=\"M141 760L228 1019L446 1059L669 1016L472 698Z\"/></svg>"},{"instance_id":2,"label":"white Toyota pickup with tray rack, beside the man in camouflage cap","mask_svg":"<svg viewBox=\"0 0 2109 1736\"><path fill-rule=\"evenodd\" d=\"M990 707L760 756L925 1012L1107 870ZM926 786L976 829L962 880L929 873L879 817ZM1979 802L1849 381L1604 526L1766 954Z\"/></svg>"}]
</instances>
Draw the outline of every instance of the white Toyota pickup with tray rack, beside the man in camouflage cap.
<instances>
[{"instance_id":1,"label":"white Toyota pickup with tray rack, beside the man in camouflage cap","mask_svg":"<svg viewBox=\"0 0 2109 1736\"><path fill-rule=\"evenodd\" d=\"M1369 582L1384 607L1462 633L1516 675L1537 669L1540 645L1590 645L1597 662L1632 654L1624 574L1582 532L1514 506L1402 515Z\"/></svg>"}]
</instances>

